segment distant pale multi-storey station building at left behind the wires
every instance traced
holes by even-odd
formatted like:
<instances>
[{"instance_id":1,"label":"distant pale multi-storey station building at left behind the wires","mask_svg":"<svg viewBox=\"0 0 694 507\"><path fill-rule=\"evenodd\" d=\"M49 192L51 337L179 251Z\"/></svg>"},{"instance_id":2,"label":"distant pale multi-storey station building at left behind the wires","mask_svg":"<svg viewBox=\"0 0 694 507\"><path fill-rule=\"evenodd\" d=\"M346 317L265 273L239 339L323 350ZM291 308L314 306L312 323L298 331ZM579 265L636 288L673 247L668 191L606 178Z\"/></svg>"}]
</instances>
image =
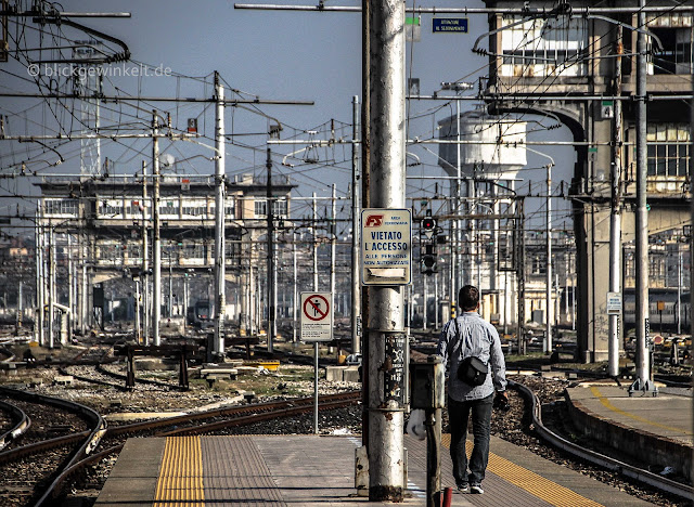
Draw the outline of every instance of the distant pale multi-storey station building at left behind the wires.
<instances>
[{"instance_id":1,"label":"distant pale multi-storey station building at left behind the wires","mask_svg":"<svg viewBox=\"0 0 694 507\"><path fill-rule=\"evenodd\" d=\"M215 299L209 292L214 286L214 185L213 177L160 178L163 317L183 316L195 301ZM46 178L38 186L37 244L42 255L37 266L44 275L39 278L44 303L51 289L60 292L54 292L53 300L66 302L74 325L82 328L94 323L95 307L103 309L106 322L113 318L114 304L128 313L136 283L152 282L155 204L151 179ZM288 178L273 177L273 217L283 223L290 216L293 187ZM256 266L264 263L267 181L242 174L226 182L224 194L224 313L227 320L252 328L260 311L259 298L254 295L258 288ZM51 262L55 270L51 270Z\"/></svg>"}]
</instances>

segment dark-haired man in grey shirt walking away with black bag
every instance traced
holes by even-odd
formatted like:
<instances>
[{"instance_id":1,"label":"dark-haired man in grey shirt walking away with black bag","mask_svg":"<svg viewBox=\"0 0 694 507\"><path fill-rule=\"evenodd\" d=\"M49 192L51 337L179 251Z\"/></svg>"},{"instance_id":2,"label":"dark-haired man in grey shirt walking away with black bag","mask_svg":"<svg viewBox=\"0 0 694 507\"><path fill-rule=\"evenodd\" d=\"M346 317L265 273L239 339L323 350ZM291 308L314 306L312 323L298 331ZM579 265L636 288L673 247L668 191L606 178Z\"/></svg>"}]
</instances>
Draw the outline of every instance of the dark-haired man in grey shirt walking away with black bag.
<instances>
[{"instance_id":1,"label":"dark-haired man in grey shirt walking away with black bag","mask_svg":"<svg viewBox=\"0 0 694 507\"><path fill-rule=\"evenodd\" d=\"M479 290L472 285L465 285L458 295L459 308L462 313L449 321L441 330L437 353L444 358L449 373L448 378L448 419L451 431L451 459L453 461L453 478L461 493L481 494L481 481L489 459L489 433L491 429L491 408L494 390L507 403L506 366L501 350L501 340L497 329L484 321L477 313L479 308ZM476 370L479 384L470 385L459 379L465 378L463 370L472 368L470 359L476 358L474 363L483 364ZM467 361L465 361L468 359ZM487 372L484 373L486 366ZM493 377L492 377L493 372ZM467 439L467 420L472 412L474 446L470 457L470 473L467 472L467 455L465 440Z\"/></svg>"}]
</instances>

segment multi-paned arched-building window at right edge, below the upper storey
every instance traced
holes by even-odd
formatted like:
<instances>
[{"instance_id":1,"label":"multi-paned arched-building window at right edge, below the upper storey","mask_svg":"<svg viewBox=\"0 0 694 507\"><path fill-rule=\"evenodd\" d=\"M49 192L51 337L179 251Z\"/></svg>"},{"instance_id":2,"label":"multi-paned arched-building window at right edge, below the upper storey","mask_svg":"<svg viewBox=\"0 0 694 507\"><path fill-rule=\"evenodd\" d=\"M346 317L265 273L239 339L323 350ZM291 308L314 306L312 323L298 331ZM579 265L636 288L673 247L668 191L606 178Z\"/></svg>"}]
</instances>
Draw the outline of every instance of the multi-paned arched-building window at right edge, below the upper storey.
<instances>
[{"instance_id":1,"label":"multi-paned arched-building window at right edge, below the upper storey","mask_svg":"<svg viewBox=\"0 0 694 507\"><path fill-rule=\"evenodd\" d=\"M648 176L684 177L690 162L689 123L650 123Z\"/></svg>"}]
</instances>

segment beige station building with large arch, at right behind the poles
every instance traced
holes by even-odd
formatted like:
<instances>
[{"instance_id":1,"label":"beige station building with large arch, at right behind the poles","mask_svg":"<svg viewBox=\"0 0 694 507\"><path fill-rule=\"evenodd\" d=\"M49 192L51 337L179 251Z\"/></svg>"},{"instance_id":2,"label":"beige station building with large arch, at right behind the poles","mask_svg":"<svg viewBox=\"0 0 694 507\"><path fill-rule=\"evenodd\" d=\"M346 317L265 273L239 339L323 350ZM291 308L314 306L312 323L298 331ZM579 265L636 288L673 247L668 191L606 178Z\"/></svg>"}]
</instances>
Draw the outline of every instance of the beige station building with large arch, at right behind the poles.
<instances>
[{"instance_id":1,"label":"beige station building with large arch, at right behind the poles","mask_svg":"<svg viewBox=\"0 0 694 507\"><path fill-rule=\"evenodd\" d=\"M622 289L633 286L635 239L635 133L638 1L498 1L489 20L487 112L553 115L568 127L576 161L570 185L578 276L580 360L607 359L606 295L609 269L612 167L620 168ZM648 2L647 203L651 276L654 284L689 286L658 275L684 262L691 244L690 99L692 11ZM601 12L600 9L605 9ZM612 11L611 11L612 9ZM657 38L657 41L656 39ZM477 48L478 49L478 48ZM689 227L687 227L689 225ZM663 249L658 244L671 245ZM677 248L673 245L679 245ZM664 259L661 251L677 251ZM624 318L621 321L625 322ZM621 326L622 332L625 326Z\"/></svg>"}]
</instances>

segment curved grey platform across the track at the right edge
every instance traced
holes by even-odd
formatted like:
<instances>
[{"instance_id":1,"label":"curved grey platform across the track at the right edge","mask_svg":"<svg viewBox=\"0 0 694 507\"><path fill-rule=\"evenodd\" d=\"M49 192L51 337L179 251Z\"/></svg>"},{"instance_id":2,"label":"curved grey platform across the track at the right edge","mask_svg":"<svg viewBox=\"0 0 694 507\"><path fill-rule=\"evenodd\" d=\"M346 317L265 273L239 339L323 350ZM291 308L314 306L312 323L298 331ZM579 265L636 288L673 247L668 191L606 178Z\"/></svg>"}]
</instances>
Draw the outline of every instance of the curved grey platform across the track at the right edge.
<instances>
[{"instance_id":1,"label":"curved grey platform across the track at the right edge","mask_svg":"<svg viewBox=\"0 0 694 507\"><path fill-rule=\"evenodd\" d=\"M577 427L652 471L674 468L691 477L694 442L692 389L659 387L657 396L629 386L582 382L566 390Z\"/></svg>"}]
</instances>

